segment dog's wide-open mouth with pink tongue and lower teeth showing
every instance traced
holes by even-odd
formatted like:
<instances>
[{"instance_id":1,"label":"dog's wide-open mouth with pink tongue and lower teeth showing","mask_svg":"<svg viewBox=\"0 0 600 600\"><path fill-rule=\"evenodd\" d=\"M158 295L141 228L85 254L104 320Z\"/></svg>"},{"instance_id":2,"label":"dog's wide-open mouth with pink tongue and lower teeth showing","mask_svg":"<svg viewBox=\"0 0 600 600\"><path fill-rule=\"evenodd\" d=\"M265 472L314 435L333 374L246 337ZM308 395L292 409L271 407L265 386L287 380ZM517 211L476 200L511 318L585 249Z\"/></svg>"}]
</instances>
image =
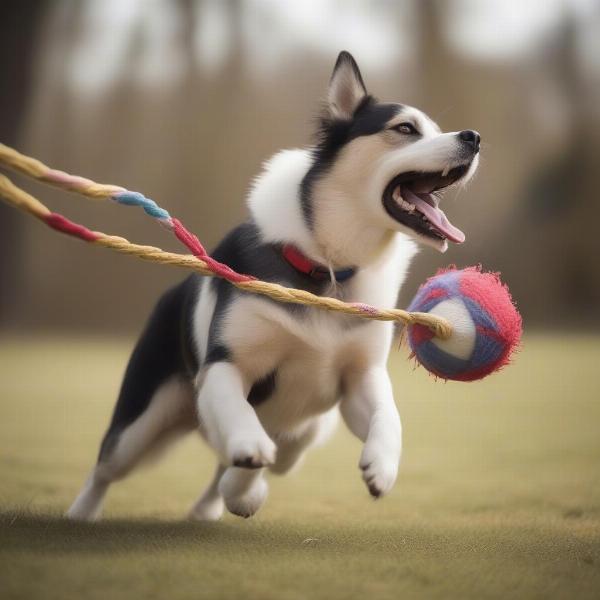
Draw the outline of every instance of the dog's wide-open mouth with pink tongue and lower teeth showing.
<instances>
[{"instance_id":1,"label":"dog's wide-open mouth with pink tongue and lower teeth showing","mask_svg":"<svg viewBox=\"0 0 600 600\"><path fill-rule=\"evenodd\" d=\"M438 204L442 190L458 181L467 170L468 166L460 166L446 173L402 173L386 186L383 205L393 219L425 238L462 244L465 234L450 223Z\"/></svg>"}]
</instances>

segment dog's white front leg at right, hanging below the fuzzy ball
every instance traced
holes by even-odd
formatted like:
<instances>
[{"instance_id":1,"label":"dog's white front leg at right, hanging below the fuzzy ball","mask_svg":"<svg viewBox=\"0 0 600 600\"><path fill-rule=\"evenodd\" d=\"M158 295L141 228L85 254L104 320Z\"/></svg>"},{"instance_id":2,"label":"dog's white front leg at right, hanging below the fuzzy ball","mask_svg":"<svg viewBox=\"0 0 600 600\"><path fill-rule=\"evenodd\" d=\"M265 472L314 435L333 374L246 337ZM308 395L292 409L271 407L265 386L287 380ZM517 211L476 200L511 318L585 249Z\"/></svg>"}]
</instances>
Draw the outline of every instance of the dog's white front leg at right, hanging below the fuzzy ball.
<instances>
[{"instance_id":1,"label":"dog's white front leg at right, hanging below the fuzzy ball","mask_svg":"<svg viewBox=\"0 0 600 600\"><path fill-rule=\"evenodd\" d=\"M350 430L365 446L360 468L375 498L390 491L398 474L402 452L402 426L392 385L383 367L353 374L340 409Z\"/></svg>"}]
</instances>

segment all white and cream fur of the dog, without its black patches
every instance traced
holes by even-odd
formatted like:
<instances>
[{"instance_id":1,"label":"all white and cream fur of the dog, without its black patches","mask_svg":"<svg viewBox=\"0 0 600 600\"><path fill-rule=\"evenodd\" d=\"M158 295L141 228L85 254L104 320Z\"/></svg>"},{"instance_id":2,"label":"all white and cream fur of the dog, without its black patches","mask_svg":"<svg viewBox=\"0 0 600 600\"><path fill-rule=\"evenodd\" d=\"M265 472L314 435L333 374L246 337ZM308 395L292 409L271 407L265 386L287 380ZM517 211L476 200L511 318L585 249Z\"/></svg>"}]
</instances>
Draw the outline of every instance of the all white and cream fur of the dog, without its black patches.
<instances>
[{"instance_id":1,"label":"all white and cream fur of the dog, without its black patches","mask_svg":"<svg viewBox=\"0 0 600 600\"><path fill-rule=\"evenodd\" d=\"M342 69L329 90L330 110L349 118L364 95L362 80ZM443 171L458 163L456 134L443 134L421 111L406 107L398 122L411 120L422 132L404 144L386 131L351 141L313 190L314 227L299 203L311 151L285 150L266 163L248 197L252 217L265 242L294 244L331 269L359 267L345 283L344 300L394 307L420 236L390 217L381 197L397 173ZM473 160L467 178L477 166ZM434 244L444 249L443 244ZM217 299L209 280L201 285L194 310L193 339L202 364ZM332 281L326 291L336 295ZM203 520L220 518L224 507L254 514L267 496L264 468L285 473L305 450L333 431L341 413L364 442L362 477L379 496L392 488L402 435L386 361L393 325L371 321L351 326L349 317L309 310L302 318L257 296L238 295L222 320L223 343L233 360L201 368L195 390L170 381L155 394L146 413L122 432L110 459L99 463L69 516L96 518L111 481L123 476L165 434L197 425L190 411L195 397L200 430L218 456L208 489L190 512ZM253 382L277 369L277 387L255 408L246 398ZM255 469L233 466L249 461ZM238 463L239 464L239 463Z\"/></svg>"}]
</instances>

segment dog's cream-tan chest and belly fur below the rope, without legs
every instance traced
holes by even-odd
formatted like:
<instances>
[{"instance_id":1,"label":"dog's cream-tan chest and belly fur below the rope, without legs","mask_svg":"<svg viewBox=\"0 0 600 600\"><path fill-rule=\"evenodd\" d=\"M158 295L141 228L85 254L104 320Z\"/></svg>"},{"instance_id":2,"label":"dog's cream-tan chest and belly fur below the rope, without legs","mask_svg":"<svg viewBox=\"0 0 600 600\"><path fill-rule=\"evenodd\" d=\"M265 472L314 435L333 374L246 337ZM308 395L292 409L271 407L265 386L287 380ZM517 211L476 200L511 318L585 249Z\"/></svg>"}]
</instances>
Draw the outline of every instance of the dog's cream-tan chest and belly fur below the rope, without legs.
<instances>
[{"instance_id":1,"label":"dog's cream-tan chest and belly fur below the rope, without legs","mask_svg":"<svg viewBox=\"0 0 600 600\"><path fill-rule=\"evenodd\" d=\"M275 373L272 394L256 407L269 433L292 431L339 401L344 375L363 362L372 325L349 326L322 311L298 318L253 298L236 302L224 331L236 364L247 381Z\"/></svg>"}]
</instances>

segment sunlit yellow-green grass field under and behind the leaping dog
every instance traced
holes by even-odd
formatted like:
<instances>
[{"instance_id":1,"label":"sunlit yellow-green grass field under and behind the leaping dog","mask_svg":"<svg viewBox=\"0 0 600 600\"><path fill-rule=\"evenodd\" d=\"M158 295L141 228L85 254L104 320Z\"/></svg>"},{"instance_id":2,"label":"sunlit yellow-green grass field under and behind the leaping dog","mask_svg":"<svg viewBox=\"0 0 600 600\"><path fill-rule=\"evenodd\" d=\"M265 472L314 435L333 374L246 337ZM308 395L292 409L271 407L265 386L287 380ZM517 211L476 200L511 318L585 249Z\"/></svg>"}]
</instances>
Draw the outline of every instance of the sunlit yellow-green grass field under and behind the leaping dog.
<instances>
[{"instance_id":1,"label":"sunlit yellow-green grass field under and behind the leaping dog","mask_svg":"<svg viewBox=\"0 0 600 600\"><path fill-rule=\"evenodd\" d=\"M253 519L181 520L213 460L195 437L67 522L130 342L0 343L0 598L600 598L600 339L529 337L476 384L391 370L404 459L369 498L340 427Z\"/></svg>"}]
</instances>

